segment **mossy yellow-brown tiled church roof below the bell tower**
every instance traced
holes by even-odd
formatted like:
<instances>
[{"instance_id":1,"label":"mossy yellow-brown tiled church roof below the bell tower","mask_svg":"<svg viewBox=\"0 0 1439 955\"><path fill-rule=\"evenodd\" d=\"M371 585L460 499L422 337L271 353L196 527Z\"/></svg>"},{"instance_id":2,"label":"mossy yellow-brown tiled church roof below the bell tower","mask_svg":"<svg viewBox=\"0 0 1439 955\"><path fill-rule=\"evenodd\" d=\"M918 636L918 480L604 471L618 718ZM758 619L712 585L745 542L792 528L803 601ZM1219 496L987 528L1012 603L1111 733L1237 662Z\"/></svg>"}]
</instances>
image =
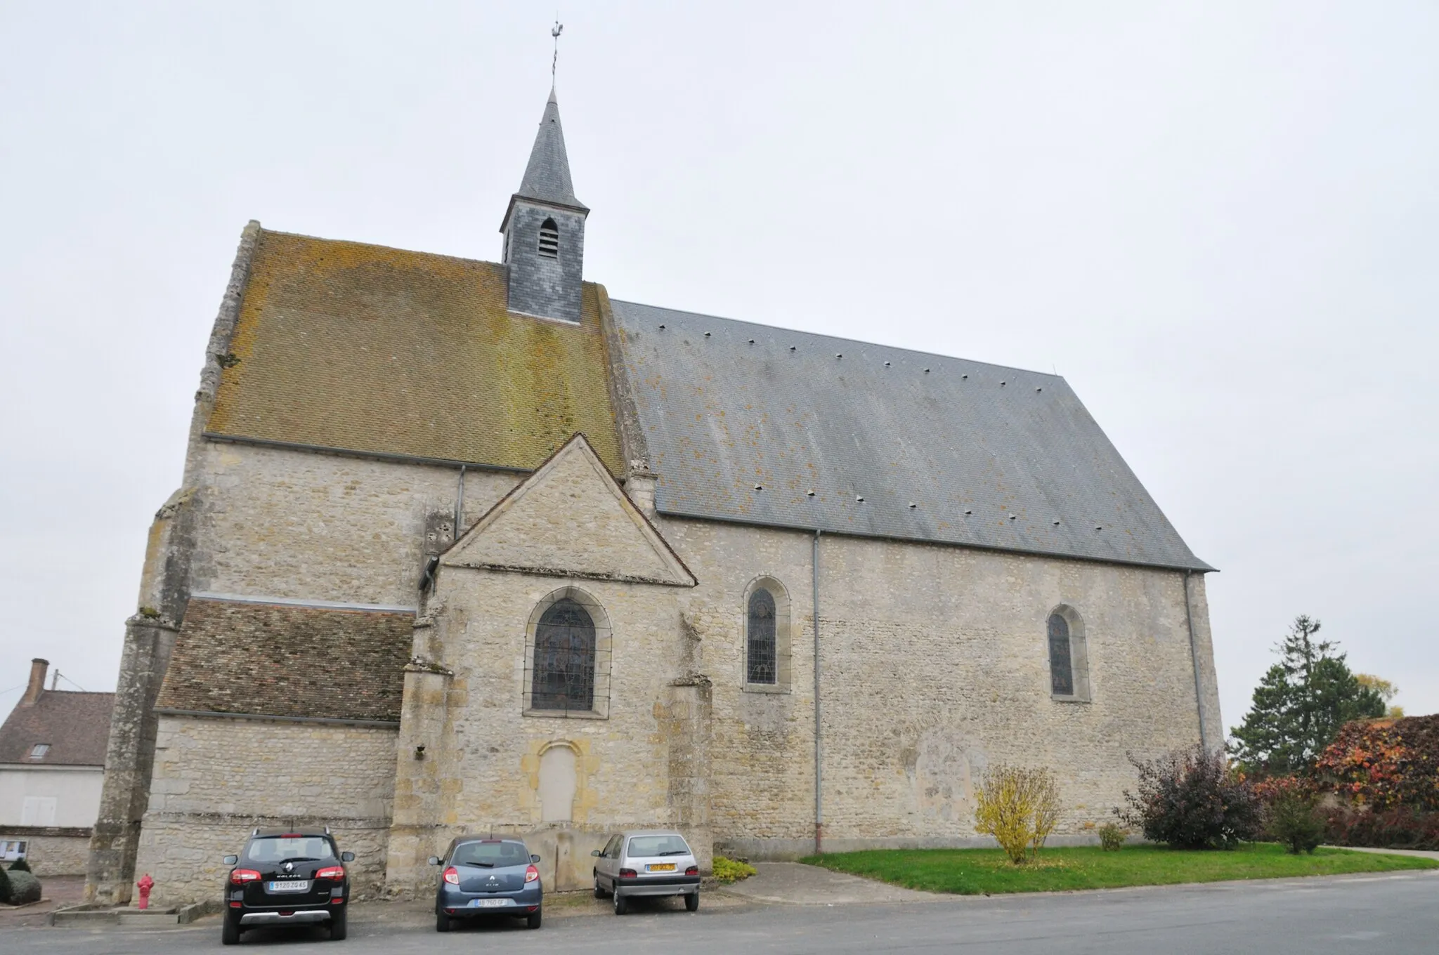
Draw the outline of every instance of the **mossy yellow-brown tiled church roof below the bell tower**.
<instances>
[{"instance_id":1,"label":"mossy yellow-brown tiled church roof below the bell tower","mask_svg":"<svg viewBox=\"0 0 1439 955\"><path fill-rule=\"evenodd\" d=\"M262 232L212 434L531 470L584 431L623 473L596 286L505 309L492 262Z\"/></svg>"}]
</instances>

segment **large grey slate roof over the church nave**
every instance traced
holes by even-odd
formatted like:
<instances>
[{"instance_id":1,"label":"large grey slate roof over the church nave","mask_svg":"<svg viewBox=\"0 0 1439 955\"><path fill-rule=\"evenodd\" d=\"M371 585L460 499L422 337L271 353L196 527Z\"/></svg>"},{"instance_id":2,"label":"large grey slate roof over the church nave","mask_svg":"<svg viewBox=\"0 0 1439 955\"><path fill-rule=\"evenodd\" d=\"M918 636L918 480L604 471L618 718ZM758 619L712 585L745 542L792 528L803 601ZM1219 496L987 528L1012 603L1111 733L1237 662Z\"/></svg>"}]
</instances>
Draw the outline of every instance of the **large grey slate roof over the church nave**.
<instances>
[{"instance_id":1,"label":"large grey slate roof over the church nave","mask_svg":"<svg viewBox=\"0 0 1439 955\"><path fill-rule=\"evenodd\" d=\"M1061 377L612 309L662 513L1213 570Z\"/></svg>"}]
</instances>

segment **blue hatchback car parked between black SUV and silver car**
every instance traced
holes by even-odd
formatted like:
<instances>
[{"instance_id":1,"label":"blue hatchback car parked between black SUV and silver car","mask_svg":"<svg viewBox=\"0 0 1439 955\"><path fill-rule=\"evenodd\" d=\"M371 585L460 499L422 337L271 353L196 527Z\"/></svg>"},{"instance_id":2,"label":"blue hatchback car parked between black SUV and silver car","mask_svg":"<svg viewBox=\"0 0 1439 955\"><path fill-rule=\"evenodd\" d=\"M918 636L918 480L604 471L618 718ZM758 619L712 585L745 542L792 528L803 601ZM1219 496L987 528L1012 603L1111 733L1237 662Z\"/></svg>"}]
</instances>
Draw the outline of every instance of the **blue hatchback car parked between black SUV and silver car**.
<instances>
[{"instance_id":1,"label":"blue hatchback car parked between black SUV and silver car","mask_svg":"<svg viewBox=\"0 0 1439 955\"><path fill-rule=\"evenodd\" d=\"M479 916L521 918L537 929L544 915L544 887L535 863L518 839L460 836L445 856L430 856L432 866L445 866L435 893L435 931L449 932L455 919Z\"/></svg>"}]
</instances>

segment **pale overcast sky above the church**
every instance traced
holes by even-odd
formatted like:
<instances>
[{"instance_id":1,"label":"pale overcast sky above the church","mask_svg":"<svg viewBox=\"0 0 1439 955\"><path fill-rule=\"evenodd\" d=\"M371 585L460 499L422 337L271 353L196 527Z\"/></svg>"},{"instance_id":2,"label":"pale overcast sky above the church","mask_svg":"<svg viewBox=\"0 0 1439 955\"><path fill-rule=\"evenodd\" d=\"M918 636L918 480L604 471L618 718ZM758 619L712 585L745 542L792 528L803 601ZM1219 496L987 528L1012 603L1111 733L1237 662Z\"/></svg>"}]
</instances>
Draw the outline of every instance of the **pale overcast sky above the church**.
<instances>
[{"instance_id":1,"label":"pale overcast sky above the church","mask_svg":"<svg viewBox=\"0 0 1439 955\"><path fill-rule=\"evenodd\" d=\"M1058 371L1226 726L1299 613L1439 710L1439 4L560 7L587 279ZM115 685L245 223L498 259L554 10L0 0L0 715Z\"/></svg>"}]
</instances>

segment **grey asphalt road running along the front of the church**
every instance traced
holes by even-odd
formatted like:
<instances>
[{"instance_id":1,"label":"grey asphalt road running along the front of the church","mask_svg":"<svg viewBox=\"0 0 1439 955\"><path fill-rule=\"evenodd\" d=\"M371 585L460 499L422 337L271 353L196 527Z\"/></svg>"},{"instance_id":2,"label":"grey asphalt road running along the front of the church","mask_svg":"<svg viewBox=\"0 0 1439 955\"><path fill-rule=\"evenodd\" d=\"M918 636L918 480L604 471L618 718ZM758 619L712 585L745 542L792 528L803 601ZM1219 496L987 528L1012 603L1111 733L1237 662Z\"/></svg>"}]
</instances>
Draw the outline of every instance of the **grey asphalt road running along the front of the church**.
<instances>
[{"instance_id":1,"label":"grey asphalt road running along the front of the church","mask_svg":"<svg viewBox=\"0 0 1439 955\"><path fill-rule=\"evenodd\" d=\"M1230 882L1043 896L960 897L863 906L743 905L653 908L623 918L547 918L543 929L475 926L439 936L419 916L366 918L357 909L342 951L425 954L502 946L507 952L1150 952L1403 954L1439 951L1439 873ZM246 933L245 952L330 946L324 932ZM19 928L6 955L157 955L217 951L216 920L163 931Z\"/></svg>"}]
</instances>

